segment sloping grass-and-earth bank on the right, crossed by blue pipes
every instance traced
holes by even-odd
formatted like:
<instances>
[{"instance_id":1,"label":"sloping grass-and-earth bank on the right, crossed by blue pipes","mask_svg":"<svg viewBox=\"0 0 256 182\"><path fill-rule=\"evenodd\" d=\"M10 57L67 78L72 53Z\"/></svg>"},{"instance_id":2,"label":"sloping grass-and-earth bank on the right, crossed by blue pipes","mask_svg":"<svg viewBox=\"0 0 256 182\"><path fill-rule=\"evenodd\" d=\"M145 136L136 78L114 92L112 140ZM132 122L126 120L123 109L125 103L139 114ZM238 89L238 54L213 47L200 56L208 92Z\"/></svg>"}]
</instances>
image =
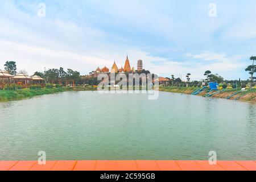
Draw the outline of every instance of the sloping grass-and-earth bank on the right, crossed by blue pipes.
<instances>
[{"instance_id":1,"label":"sloping grass-and-earth bank on the right, crossed by blue pipes","mask_svg":"<svg viewBox=\"0 0 256 182\"><path fill-rule=\"evenodd\" d=\"M163 92L172 92L172 93L184 93L184 94L191 94L193 93L197 88L187 88L187 87L175 87L175 86L160 86L159 90ZM218 94L214 94L214 98L227 98L229 96L232 96L232 94L237 93L241 89L226 89ZM202 92L198 94L198 96L203 96L209 92L209 90L206 90L205 92ZM212 92L214 93L214 92ZM238 101L245 101L245 102L254 102L256 103L256 89L249 89L245 92L241 92L236 94L235 96L231 97L230 100L234 100L236 97L242 96L238 98Z\"/></svg>"}]
</instances>

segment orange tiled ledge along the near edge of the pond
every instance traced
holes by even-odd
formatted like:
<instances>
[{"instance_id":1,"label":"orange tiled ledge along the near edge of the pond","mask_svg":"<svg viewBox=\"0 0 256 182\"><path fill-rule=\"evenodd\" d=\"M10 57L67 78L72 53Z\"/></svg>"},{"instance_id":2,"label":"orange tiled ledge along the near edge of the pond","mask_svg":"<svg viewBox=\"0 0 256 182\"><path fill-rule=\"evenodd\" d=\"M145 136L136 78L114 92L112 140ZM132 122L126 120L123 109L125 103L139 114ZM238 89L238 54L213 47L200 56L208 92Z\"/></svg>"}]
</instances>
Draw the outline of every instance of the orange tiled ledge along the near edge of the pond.
<instances>
[{"instance_id":1,"label":"orange tiled ledge along the near edge of the pond","mask_svg":"<svg viewBox=\"0 0 256 182\"><path fill-rule=\"evenodd\" d=\"M0 161L0 171L256 171L256 161L203 160L62 160Z\"/></svg>"}]
</instances>

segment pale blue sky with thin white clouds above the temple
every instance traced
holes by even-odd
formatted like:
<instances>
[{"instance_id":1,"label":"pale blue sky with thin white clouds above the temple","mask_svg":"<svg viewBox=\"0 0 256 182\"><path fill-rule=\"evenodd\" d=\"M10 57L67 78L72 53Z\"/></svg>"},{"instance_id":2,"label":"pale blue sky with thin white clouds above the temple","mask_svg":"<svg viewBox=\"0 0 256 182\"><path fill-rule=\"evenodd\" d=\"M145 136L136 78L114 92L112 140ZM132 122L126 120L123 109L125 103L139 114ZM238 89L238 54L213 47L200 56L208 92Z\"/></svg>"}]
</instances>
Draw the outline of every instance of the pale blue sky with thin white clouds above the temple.
<instances>
[{"instance_id":1,"label":"pale blue sky with thin white clouds above the temple","mask_svg":"<svg viewBox=\"0 0 256 182\"><path fill-rule=\"evenodd\" d=\"M46 16L38 15L40 3ZM160 76L199 80L209 69L247 79L256 55L255 7L254 0L2 0L0 69L13 60L30 75L59 67L85 75L113 61L123 66L128 53L132 66L142 59Z\"/></svg>"}]
</instances>

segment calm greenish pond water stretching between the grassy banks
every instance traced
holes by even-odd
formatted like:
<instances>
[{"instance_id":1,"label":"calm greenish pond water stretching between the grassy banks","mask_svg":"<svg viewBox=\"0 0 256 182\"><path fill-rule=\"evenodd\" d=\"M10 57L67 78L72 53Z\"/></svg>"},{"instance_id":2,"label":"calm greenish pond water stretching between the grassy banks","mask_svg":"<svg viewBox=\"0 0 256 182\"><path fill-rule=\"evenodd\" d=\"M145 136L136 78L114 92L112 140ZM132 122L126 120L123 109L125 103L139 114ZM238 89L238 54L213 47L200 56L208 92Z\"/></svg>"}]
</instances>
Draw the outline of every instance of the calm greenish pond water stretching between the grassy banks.
<instances>
[{"instance_id":1,"label":"calm greenish pond water stretching between the grassy banks","mask_svg":"<svg viewBox=\"0 0 256 182\"><path fill-rule=\"evenodd\" d=\"M256 159L256 105L160 92L64 92L0 103L0 160Z\"/></svg>"}]
</instances>

